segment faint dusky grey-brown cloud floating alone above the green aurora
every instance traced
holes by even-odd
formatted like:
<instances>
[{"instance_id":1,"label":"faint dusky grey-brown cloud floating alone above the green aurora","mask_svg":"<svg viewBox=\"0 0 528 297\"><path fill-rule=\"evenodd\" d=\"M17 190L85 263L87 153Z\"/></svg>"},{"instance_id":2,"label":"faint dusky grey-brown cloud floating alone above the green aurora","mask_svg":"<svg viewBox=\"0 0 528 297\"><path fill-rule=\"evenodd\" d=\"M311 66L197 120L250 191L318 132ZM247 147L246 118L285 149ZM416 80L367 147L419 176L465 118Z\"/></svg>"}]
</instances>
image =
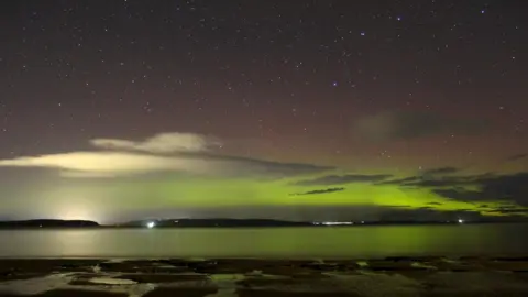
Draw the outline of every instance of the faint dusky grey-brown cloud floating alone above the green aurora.
<instances>
[{"instance_id":1,"label":"faint dusky grey-brown cloud floating alone above the green aurora","mask_svg":"<svg viewBox=\"0 0 528 297\"><path fill-rule=\"evenodd\" d=\"M487 128L481 120L459 119L433 112L387 111L360 118L354 132L370 141L415 140L437 134L474 134Z\"/></svg>"}]
</instances>

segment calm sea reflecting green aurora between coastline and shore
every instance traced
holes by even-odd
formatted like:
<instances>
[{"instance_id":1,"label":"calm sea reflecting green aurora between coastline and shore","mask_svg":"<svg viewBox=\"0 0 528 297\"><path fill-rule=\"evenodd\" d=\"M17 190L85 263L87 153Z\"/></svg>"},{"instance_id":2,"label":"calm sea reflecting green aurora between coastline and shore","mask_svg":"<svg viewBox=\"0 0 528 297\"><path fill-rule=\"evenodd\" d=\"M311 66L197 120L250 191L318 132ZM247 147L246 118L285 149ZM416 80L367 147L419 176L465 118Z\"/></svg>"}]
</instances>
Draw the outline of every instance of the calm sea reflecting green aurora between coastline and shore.
<instances>
[{"instance_id":1,"label":"calm sea reflecting green aurora between coastline and shore","mask_svg":"<svg viewBox=\"0 0 528 297\"><path fill-rule=\"evenodd\" d=\"M0 257L526 255L528 224L0 231Z\"/></svg>"}]
</instances>

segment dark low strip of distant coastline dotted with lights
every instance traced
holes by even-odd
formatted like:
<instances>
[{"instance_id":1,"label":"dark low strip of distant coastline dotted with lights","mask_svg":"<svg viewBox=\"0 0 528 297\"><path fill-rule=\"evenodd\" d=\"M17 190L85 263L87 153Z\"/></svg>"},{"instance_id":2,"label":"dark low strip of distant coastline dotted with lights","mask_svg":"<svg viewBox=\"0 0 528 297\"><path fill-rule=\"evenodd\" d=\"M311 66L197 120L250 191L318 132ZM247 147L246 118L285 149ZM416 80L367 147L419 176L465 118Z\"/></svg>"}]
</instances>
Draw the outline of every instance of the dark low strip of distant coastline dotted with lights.
<instances>
[{"instance_id":1,"label":"dark low strip of distant coastline dotted with lights","mask_svg":"<svg viewBox=\"0 0 528 297\"><path fill-rule=\"evenodd\" d=\"M136 220L116 224L100 224L88 220L23 220L0 221L0 230L18 229L168 229L168 228L279 228L279 227L314 227L314 228L345 228L367 226L446 226L446 224L485 224L485 223L526 223L527 220L487 219L474 221L348 221L348 222L311 222L283 221L267 219L153 219Z\"/></svg>"}]
</instances>

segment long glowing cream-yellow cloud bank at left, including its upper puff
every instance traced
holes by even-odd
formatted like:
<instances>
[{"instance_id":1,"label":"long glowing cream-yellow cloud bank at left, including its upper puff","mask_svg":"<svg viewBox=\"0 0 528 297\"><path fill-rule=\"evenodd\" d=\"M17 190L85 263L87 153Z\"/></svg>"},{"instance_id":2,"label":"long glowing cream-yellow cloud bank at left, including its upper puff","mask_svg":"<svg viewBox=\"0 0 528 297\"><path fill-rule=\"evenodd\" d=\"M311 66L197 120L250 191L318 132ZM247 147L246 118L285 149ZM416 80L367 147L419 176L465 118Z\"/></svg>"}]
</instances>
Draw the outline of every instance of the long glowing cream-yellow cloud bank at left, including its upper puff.
<instances>
[{"instance_id":1,"label":"long glowing cream-yellow cloud bank at left, including its upper puff","mask_svg":"<svg viewBox=\"0 0 528 297\"><path fill-rule=\"evenodd\" d=\"M177 172L222 177L262 176L282 178L304 174L321 173L332 169L330 166L312 164L278 163L243 157L215 155L201 152L208 142L198 141L200 136L182 133L166 133L144 142L125 140L94 140L98 147L112 151L69 152L40 156L25 156L0 160L0 167L42 167L59 169L64 177L121 177L158 172ZM172 136L168 136L172 135ZM113 150L122 151L113 151ZM179 151L178 151L179 150ZM142 151L130 152L130 151ZM190 152L189 152L190 151ZM146 154L145 152L150 152ZM172 155L152 153L178 152Z\"/></svg>"}]
</instances>

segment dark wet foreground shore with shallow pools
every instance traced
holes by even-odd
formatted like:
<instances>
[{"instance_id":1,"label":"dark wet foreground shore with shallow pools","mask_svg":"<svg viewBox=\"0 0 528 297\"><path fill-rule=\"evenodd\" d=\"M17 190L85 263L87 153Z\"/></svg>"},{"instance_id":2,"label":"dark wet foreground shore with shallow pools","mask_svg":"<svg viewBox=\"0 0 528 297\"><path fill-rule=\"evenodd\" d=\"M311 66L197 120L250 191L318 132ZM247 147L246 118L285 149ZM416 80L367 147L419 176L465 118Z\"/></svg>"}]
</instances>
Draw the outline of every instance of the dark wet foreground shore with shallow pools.
<instances>
[{"instance_id":1,"label":"dark wet foreground shore with shallow pools","mask_svg":"<svg viewBox=\"0 0 528 297\"><path fill-rule=\"evenodd\" d=\"M0 260L0 296L528 296L528 257Z\"/></svg>"}]
</instances>

